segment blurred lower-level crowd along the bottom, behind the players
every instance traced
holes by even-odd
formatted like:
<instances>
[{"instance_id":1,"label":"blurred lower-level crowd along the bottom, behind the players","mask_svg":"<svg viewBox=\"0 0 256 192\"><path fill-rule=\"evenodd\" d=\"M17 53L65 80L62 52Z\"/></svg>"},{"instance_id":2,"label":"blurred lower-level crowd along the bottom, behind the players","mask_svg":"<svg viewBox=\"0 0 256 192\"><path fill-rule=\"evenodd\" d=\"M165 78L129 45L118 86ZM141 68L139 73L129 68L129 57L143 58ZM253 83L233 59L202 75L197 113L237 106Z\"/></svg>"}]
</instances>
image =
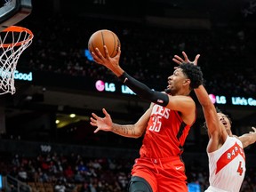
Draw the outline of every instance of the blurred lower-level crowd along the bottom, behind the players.
<instances>
[{"instance_id":1,"label":"blurred lower-level crowd along the bottom, behind the players","mask_svg":"<svg viewBox=\"0 0 256 192\"><path fill-rule=\"evenodd\" d=\"M56 192L126 192L134 159L88 158L71 154L38 156L1 156L0 174L11 175L25 183L51 183ZM188 183L201 191L208 186L207 165L189 164ZM256 173L247 169L241 192L256 191Z\"/></svg>"}]
</instances>

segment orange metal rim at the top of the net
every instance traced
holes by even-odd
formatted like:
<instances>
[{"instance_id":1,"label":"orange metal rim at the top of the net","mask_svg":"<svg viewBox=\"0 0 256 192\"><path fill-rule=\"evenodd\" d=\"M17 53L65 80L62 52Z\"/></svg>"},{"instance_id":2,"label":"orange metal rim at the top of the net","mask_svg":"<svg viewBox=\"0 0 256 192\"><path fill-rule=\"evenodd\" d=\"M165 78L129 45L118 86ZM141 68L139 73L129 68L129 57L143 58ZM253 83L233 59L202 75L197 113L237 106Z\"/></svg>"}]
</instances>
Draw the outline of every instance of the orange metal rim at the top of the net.
<instances>
[{"instance_id":1,"label":"orange metal rim at the top of the net","mask_svg":"<svg viewBox=\"0 0 256 192\"><path fill-rule=\"evenodd\" d=\"M9 47L9 46L20 46L21 44L27 43L28 41L30 41L34 35L32 33L31 30L29 30L28 28L22 28L22 27L18 27L18 26L10 26L8 28L5 28L3 30L3 32L17 32L17 33L21 33L21 32L26 32L29 34L29 36L27 37L27 39L24 39L23 41L20 41L18 43L15 44L2 44L2 47ZM1 33L1 32L0 32Z\"/></svg>"}]
</instances>

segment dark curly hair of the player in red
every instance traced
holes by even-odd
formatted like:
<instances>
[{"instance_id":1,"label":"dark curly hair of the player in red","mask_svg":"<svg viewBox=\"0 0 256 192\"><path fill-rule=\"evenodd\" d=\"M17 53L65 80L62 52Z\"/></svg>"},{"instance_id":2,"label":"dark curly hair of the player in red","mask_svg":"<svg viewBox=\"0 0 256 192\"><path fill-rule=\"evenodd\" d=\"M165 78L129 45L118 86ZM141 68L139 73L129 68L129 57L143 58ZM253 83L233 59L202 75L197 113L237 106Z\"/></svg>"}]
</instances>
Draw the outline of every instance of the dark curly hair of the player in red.
<instances>
[{"instance_id":1,"label":"dark curly hair of the player in red","mask_svg":"<svg viewBox=\"0 0 256 192\"><path fill-rule=\"evenodd\" d=\"M190 90L196 89L204 83L203 72L200 67L192 63L181 63L179 68L182 68L183 73L190 79Z\"/></svg>"}]
</instances>

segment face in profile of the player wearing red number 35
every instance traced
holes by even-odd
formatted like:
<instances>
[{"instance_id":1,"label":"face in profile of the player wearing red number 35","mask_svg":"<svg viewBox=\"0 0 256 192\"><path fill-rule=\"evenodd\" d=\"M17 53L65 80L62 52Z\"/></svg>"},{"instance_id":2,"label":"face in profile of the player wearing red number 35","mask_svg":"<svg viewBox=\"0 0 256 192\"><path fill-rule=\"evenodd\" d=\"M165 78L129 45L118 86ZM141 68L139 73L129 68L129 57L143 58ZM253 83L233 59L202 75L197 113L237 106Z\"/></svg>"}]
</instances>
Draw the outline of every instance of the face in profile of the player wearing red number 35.
<instances>
[{"instance_id":1,"label":"face in profile of the player wearing red number 35","mask_svg":"<svg viewBox=\"0 0 256 192\"><path fill-rule=\"evenodd\" d=\"M172 95L177 94L186 79L188 79L188 77L184 75L182 68L176 68L172 76L168 77L168 85L165 92L171 93Z\"/></svg>"}]
</instances>

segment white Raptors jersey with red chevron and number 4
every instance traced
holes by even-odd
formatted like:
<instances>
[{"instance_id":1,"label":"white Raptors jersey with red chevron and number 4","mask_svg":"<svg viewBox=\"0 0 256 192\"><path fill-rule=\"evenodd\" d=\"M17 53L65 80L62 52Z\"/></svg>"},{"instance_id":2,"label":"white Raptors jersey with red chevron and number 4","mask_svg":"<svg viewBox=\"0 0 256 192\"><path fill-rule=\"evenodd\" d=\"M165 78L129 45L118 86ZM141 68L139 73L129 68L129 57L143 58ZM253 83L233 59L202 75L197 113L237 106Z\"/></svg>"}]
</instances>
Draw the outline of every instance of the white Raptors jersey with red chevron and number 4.
<instances>
[{"instance_id":1,"label":"white Raptors jersey with red chevron and number 4","mask_svg":"<svg viewBox=\"0 0 256 192\"><path fill-rule=\"evenodd\" d=\"M238 192L245 173L245 155L242 142L236 137L228 136L223 146L212 153L208 153L208 157L210 186L228 192Z\"/></svg>"}]
</instances>

